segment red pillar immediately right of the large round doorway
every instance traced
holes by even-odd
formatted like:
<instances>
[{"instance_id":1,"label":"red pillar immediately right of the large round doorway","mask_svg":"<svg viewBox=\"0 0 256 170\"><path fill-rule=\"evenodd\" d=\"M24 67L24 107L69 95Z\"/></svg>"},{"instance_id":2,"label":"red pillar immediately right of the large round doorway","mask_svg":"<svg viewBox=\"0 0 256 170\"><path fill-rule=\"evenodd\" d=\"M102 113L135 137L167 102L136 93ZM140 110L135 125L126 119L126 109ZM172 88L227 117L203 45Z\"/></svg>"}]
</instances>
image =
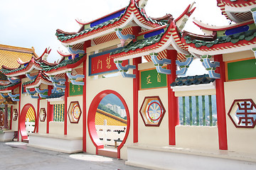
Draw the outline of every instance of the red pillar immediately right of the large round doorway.
<instances>
[{"instance_id":1,"label":"red pillar immediately right of the large round doorway","mask_svg":"<svg viewBox=\"0 0 256 170\"><path fill-rule=\"evenodd\" d=\"M132 27L132 35L135 35L134 41L136 41L137 35L142 31L142 28L139 26ZM142 63L142 57L137 57L132 60L132 64L136 66L136 69L133 70L133 74L136 75L136 78L133 79L133 120L134 120L134 127L133 127L133 133L134 133L134 143L137 143L139 141L139 135L138 135L138 111L139 111L139 69L138 64Z\"/></svg>"}]
</instances>

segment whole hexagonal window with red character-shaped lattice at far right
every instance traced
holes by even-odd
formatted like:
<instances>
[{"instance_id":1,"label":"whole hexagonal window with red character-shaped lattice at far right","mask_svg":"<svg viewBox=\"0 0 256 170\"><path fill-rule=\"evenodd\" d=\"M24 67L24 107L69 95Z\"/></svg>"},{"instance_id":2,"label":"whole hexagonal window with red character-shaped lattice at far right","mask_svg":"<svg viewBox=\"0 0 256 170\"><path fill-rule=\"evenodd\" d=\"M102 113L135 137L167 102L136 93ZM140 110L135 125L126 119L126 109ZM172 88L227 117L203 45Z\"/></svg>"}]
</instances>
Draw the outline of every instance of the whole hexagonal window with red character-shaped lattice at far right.
<instances>
[{"instance_id":1,"label":"whole hexagonal window with red character-shaped lattice at far right","mask_svg":"<svg viewBox=\"0 0 256 170\"><path fill-rule=\"evenodd\" d=\"M252 99L235 100L228 116L236 128L255 128L256 105Z\"/></svg>"}]
</instances>

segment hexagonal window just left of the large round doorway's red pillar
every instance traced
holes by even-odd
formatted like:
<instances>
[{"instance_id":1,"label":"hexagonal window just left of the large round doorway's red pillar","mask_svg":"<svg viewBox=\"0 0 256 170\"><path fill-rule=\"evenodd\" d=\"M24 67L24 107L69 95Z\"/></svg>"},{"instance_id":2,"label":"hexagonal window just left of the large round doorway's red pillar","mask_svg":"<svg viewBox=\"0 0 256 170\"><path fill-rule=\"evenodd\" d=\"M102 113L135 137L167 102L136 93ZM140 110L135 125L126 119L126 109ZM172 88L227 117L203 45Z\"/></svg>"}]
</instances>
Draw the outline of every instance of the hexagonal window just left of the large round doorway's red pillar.
<instances>
[{"instance_id":1,"label":"hexagonal window just left of the large round doorway's red pillar","mask_svg":"<svg viewBox=\"0 0 256 170\"><path fill-rule=\"evenodd\" d=\"M70 102L70 106L68 108L68 118L70 119L70 123L78 123L81 113L82 111L78 101Z\"/></svg>"}]
</instances>

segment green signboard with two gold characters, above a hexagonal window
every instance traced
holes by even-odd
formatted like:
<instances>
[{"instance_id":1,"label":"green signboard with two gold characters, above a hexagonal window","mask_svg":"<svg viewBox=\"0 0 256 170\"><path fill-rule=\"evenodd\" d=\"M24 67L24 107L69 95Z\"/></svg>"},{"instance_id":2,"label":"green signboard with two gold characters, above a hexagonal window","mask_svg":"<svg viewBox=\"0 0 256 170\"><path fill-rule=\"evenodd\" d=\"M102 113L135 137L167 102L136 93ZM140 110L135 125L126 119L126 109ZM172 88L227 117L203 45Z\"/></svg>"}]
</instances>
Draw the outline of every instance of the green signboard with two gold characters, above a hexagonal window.
<instances>
[{"instance_id":1,"label":"green signboard with two gold characters, above a hexagonal window","mask_svg":"<svg viewBox=\"0 0 256 170\"><path fill-rule=\"evenodd\" d=\"M139 72L140 89L153 89L167 86L166 74L156 72L156 69L146 69Z\"/></svg>"}]
</instances>

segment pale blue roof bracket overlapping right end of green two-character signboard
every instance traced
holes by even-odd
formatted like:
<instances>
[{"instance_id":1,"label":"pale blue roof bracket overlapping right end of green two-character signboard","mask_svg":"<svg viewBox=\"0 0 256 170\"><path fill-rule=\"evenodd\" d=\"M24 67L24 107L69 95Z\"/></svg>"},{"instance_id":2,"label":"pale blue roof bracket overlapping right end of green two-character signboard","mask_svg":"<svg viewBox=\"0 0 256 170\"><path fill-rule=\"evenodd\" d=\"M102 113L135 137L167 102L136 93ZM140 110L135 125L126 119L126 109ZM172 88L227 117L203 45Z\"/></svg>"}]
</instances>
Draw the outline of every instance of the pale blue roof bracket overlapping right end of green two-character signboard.
<instances>
[{"instance_id":1,"label":"pale blue roof bracket overlapping right end of green two-character signboard","mask_svg":"<svg viewBox=\"0 0 256 170\"><path fill-rule=\"evenodd\" d=\"M171 70L170 69L164 69L163 68L163 65L164 64L171 64L171 60L169 59L161 59L159 60L157 58L157 55L158 53L150 53L149 54L151 56L151 60L154 62L154 66L156 67L156 71L158 73L161 73L161 74L171 74Z\"/></svg>"}]
</instances>

